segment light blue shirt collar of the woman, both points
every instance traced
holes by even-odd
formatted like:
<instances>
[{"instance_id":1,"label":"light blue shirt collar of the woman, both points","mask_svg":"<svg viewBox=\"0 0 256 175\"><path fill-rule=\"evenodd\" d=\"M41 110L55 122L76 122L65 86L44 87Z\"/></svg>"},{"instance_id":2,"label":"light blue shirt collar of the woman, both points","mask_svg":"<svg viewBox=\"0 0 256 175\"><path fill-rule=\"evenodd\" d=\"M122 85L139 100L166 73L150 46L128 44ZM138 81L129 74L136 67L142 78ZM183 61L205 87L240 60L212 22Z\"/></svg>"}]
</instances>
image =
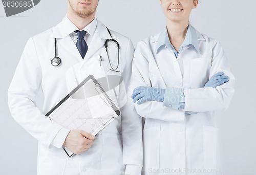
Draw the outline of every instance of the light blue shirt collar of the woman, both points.
<instances>
[{"instance_id":1,"label":"light blue shirt collar of the woman, both points","mask_svg":"<svg viewBox=\"0 0 256 175\"><path fill-rule=\"evenodd\" d=\"M197 38L197 31L190 24L188 25L187 33L186 33L185 39L181 45L181 48L184 46L188 46L188 45L193 45L195 47L195 49L197 50L197 52L200 53L199 45L198 45L198 38ZM159 48L161 46L165 46L169 49L173 48L172 43L170 43L170 40L168 37L167 28L162 30L158 37L155 53L159 50Z\"/></svg>"}]
</instances>

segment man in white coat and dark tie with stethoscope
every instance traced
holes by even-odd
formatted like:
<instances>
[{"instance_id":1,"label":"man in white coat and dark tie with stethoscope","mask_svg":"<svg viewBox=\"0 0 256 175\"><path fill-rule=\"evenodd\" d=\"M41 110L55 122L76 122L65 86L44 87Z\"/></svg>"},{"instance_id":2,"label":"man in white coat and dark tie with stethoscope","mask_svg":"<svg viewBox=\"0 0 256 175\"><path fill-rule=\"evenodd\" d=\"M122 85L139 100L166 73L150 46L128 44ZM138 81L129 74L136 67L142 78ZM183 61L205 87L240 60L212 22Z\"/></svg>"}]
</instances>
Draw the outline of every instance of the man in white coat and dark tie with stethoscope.
<instances>
[{"instance_id":1,"label":"man in white coat and dark tie with stethoscope","mask_svg":"<svg viewBox=\"0 0 256 175\"><path fill-rule=\"evenodd\" d=\"M97 5L98 0L69 0L67 16L61 23L28 40L12 79L8 91L10 111L13 118L39 142L38 175L141 174L141 119L133 109L132 102L118 104L121 116L96 137L83 130L64 128L45 116L70 92L67 71L80 63L85 65L86 75L100 72L99 77L120 76L125 86L129 85L133 44L129 38L108 31L95 18ZM55 38L57 57L61 59L57 66L51 64ZM119 72L110 71L104 48L105 40L111 38L117 40L120 46L119 64L118 57L110 58L112 67L118 65ZM35 104L40 87L45 96L42 111ZM116 90L120 94L122 88ZM125 101L123 98L120 99L119 95L117 101ZM75 155L68 157L63 147Z\"/></svg>"}]
</instances>

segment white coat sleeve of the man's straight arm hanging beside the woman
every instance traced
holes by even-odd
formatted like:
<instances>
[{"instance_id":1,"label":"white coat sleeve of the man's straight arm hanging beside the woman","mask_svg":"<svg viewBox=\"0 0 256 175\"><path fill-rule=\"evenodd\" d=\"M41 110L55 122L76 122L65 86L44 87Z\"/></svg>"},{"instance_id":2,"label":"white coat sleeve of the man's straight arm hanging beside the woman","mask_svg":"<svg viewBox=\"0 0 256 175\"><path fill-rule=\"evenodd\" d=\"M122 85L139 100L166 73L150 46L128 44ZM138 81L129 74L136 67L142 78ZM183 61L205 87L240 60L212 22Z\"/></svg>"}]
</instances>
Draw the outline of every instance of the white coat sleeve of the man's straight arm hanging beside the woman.
<instances>
[{"instance_id":1,"label":"white coat sleeve of the man's straight arm hanging beside the woman","mask_svg":"<svg viewBox=\"0 0 256 175\"><path fill-rule=\"evenodd\" d=\"M125 97L122 97L122 96L120 97L119 95L119 98L127 99L126 104L121 107L123 163L127 164L125 174L137 174L136 172L138 171L140 172L142 167L142 159L143 159L141 117L136 113L131 97L127 96L128 87L131 81L133 56L134 56L134 47L133 47L132 41L129 39L126 52L125 52L125 61L124 61L123 74L122 74L123 81L125 84L125 89L123 90L124 93L121 93L121 94L123 94L122 96L125 96ZM132 166L129 167L130 165ZM137 168L135 168L134 165L137 165Z\"/></svg>"}]
</instances>

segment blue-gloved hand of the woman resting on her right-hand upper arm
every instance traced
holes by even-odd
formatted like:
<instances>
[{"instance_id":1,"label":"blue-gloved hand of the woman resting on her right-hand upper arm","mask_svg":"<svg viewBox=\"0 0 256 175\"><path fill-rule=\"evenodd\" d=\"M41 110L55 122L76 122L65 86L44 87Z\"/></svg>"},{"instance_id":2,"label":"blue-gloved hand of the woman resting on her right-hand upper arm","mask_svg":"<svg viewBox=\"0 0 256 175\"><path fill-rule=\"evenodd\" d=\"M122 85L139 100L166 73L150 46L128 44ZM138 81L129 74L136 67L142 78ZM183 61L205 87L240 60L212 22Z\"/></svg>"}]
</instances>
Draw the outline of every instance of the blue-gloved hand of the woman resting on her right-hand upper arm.
<instances>
[{"instance_id":1,"label":"blue-gloved hand of the woman resting on her right-hand upper arm","mask_svg":"<svg viewBox=\"0 0 256 175\"><path fill-rule=\"evenodd\" d=\"M204 88L216 88L218 85L222 85L225 82L228 82L228 76L224 75L223 72L218 72L209 79L209 81L204 85Z\"/></svg>"}]
</instances>

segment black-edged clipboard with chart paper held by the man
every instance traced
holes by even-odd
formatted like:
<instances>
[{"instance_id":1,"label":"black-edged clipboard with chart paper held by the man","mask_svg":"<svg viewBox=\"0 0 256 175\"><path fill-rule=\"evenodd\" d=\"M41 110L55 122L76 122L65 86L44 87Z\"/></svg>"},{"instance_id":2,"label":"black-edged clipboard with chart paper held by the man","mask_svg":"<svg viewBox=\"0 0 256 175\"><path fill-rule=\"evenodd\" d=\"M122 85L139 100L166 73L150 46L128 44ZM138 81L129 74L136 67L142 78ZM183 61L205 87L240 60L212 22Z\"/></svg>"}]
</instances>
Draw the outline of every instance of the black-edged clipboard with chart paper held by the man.
<instances>
[{"instance_id":1,"label":"black-edged clipboard with chart paper held by the man","mask_svg":"<svg viewBox=\"0 0 256 175\"><path fill-rule=\"evenodd\" d=\"M83 129L97 135L120 115L108 94L93 75L84 79L56 104L46 116L68 129ZM71 157L73 152L63 148Z\"/></svg>"}]
</instances>

